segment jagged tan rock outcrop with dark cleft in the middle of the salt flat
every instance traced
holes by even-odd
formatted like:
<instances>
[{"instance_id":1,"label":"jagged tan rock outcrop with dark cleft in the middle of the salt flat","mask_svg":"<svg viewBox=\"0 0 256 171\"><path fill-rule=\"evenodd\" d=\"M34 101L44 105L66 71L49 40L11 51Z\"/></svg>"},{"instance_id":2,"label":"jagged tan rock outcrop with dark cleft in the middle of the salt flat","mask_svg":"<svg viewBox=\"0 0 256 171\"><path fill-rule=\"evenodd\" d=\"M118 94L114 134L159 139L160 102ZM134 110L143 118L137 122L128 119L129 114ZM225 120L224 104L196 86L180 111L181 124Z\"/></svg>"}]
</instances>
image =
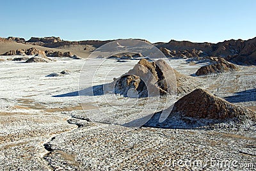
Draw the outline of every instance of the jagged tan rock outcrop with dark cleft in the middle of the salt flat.
<instances>
[{"instance_id":1,"label":"jagged tan rock outcrop with dark cleft in the middle of the salt flat","mask_svg":"<svg viewBox=\"0 0 256 171\"><path fill-rule=\"evenodd\" d=\"M116 94L138 98L186 94L198 87L193 77L173 70L163 59L151 63L141 59L132 70L119 78L114 78L112 84L115 84Z\"/></svg>"}]
</instances>

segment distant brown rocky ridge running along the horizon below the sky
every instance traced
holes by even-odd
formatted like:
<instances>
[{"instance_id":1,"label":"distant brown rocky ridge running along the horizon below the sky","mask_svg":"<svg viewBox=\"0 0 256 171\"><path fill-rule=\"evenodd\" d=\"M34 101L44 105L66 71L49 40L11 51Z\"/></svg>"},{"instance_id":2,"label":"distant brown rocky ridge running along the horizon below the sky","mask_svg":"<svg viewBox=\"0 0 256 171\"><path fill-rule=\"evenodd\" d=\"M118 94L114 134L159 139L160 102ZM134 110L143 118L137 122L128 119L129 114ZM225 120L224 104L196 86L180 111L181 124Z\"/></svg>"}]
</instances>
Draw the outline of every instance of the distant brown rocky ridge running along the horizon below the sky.
<instances>
[{"instance_id":1,"label":"distant brown rocky ridge running along the horizon below the sky","mask_svg":"<svg viewBox=\"0 0 256 171\"><path fill-rule=\"evenodd\" d=\"M67 41L61 40L60 37L51 36L45 38L31 37L28 41L24 40L24 38L8 37L0 38L0 41L16 41L18 43L40 45L49 48L60 48L70 45L92 45L98 48L113 40ZM141 41L150 43L147 40ZM166 56L168 56L166 53L170 52L172 56L168 57L173 57L175 54L177 54L177 57L218 56L225 57L228 61L236 64L256 65L256 37L249 40L225 40L219 43L193 43L191 41L171 40L168 43L158 42L153 43L153 45L160 48Z\"/></svg>"}]
</instances>

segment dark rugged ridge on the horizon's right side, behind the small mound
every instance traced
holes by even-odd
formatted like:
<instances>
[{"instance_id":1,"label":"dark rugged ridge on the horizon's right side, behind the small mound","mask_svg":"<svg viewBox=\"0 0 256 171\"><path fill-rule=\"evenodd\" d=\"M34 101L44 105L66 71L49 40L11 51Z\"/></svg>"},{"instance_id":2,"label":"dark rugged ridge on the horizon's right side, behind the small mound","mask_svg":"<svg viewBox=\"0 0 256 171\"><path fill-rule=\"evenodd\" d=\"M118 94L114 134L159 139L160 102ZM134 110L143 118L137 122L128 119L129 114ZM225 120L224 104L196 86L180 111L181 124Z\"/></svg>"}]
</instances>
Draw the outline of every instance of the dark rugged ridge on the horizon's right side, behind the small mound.
<instances>
[{"instance_id":1,"label":"dark rugged ridge on the horizon's right side, behind the small mound","mask_svg":"<svg viewBox=\"0 0 256 171\"><path fill-rule=\"evenodd\" d=\"M167 57L218 56L241 65L256 65L256 38L250 40L225 40L220 43L193 43L171 40L168 43L154 43ZM189 52L189 50L194 52ZM174 53L175 52L175 53ZM200 52L200 54L198 54ZM174 53L174 54L173 54Z\"/></svg>"}]
</instances>

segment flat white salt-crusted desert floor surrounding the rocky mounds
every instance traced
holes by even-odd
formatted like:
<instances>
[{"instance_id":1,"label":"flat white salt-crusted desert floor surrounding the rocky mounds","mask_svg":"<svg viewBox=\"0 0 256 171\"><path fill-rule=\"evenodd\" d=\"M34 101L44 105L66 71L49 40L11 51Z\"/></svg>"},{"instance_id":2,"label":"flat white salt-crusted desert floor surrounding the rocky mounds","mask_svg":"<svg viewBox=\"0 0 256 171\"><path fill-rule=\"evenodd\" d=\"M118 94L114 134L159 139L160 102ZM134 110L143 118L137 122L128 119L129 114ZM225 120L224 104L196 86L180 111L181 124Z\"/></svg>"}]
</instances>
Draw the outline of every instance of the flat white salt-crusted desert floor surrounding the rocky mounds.
<instances>
[{"instance_id":1,"label":"flat white salt-crusted desert floor surrounding the rocky mounds","mask_svg":"<svg viewBox=\"0 0 256 171\"><path fill-rule=\"evenodd\" d=\"M56 58L53 63L23 63L7 58L0 57L0 170L256 169L254 127L180 130L122 126L161 110L165 99L151 99L157 101L156 106L145 98L92 96L90 87L113 81L131 70L136 60ZM189 64L185 59L169 62L186 75L207 64ZM256 111L256 67L239 68L234 73L195 79L216 96ZM45 77L63 70L70 74ZM87 95L79 96L81 87L87 89ZM167 105L179 98L172 98Z\"/></svg>"}]
</instances>

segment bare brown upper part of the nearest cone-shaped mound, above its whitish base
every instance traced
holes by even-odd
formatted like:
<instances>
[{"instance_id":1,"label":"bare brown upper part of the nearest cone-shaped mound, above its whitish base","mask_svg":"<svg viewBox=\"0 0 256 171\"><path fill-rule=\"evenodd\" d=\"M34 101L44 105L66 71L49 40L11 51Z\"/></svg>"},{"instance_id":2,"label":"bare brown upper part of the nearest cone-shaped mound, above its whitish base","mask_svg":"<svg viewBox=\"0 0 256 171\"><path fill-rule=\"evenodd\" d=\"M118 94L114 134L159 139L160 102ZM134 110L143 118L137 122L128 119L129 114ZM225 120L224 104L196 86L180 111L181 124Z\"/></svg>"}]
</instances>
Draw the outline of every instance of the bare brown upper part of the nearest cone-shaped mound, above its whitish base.
<instances>
[{"instance_id":1,"label":"bare brown upper part of the nearest cone-shaped mound, above its whitish base","mask_svg":"<svg viewBox=\"0 0 256 171\"><path fill-rule=\"evenodd\" d=\"M196 89L180 98L172 111L173 114L177 112L182 117L200 119L230 119L246 115L256 121L256 115L250 109L233 105L203 89Z\"/></svg>"}]
</instances>

